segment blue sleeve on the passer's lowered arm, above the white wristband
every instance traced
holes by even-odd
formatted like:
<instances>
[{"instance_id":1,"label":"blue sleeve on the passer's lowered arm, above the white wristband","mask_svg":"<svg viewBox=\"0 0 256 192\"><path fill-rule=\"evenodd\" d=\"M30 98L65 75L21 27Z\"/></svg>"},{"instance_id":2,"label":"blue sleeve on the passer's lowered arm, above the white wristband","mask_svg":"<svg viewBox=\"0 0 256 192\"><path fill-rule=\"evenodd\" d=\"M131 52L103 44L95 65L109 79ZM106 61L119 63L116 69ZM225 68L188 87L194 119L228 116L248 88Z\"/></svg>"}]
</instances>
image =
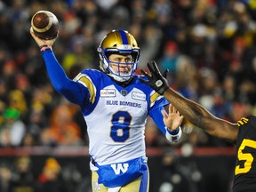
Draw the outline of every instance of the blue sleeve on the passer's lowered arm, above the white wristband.
<instances>
[{"instance_id":1,"label":"blue sleeve on the passer's lowered arm, above the white wristband","mask_svg":"<svg viewBox=\"0 0 256 192\"><path fill-rule=\"evenodd\" d=\"M149 116L154 120L158 129L165 135L165 125L164 125L164 116L161 113L161 110L165 110L164 107L155 108L149 111Z\"/></svg>"}]
</instances>

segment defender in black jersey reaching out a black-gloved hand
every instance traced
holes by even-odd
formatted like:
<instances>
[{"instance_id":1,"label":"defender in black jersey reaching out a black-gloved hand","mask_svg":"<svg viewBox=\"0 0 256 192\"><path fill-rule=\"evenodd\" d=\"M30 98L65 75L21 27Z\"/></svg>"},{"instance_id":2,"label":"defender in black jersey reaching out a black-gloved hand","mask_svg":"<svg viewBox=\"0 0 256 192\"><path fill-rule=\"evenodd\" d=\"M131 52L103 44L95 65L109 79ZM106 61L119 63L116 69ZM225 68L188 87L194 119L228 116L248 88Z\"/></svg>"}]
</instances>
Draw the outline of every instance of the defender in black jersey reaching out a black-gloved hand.
<instances>
[{"instance_id":1,"label":"defender in black jersey reaching out a black-gloved hand","mask_svg":"<svg viewBox=\"0 0 256 192\"><path fill-rule=\"evenodd\" d=\"M256 117L243 117L237 124L232 124L213 116L201 105L186 99L170 88L155 61L148 63L148 69L151 72L150 76L141 70L148 81L144 79L140 81L151 86L156 92L160 90L165 99L172 102L169 108L176 108L188 121L212 136L236 144L233 192L256 192Z\"/></svg>"}]
</instances>

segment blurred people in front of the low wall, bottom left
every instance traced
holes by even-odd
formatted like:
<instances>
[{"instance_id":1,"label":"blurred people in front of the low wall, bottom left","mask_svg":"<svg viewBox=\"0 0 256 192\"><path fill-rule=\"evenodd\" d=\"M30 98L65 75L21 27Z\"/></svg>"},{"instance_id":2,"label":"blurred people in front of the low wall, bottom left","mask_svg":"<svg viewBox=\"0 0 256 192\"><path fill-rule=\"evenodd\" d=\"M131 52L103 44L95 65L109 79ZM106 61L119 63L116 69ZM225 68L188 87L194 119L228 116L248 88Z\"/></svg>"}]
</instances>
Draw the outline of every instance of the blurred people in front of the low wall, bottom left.
<instances>
[{"instance_id":1,"label":"blurred people in front of the low wall, bottom left","mask_svg":"<svg viewBox=\"0 0 256 192\"><path fill-rule=\"evenodd\" d=\"M38 161L37 161L38 163ZM38 165L38 164L37 164ZM63 164L54 157L44 160L35 172L35 160L17 157L12 164L0 163L1 192L91 192L90 178L78 171L76 164Z\"/></svg>"}]
</instances>

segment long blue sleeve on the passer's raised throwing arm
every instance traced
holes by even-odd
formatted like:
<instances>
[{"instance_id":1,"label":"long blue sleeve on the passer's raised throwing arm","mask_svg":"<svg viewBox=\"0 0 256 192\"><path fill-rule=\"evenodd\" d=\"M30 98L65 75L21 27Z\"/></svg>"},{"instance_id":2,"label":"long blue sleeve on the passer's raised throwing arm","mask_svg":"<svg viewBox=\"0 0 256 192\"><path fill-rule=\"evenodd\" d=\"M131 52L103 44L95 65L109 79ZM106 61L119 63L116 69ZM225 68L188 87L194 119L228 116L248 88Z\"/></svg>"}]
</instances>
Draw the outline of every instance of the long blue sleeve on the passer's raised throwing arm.
<instances>
[{"instance_id":1,"label":"long blue sleeve on the passer's raised throwing arm","mask_svg":"<svg viewBox=\"0 0 256 192\"><path fill-rule=\"evenodd\" d=\"M88 89L68 78L52 50L44 51L43 57L54 89L70 102L79 106L84 105L85 99L89 98L90 92Z\"/></svg>"}]
</instances>

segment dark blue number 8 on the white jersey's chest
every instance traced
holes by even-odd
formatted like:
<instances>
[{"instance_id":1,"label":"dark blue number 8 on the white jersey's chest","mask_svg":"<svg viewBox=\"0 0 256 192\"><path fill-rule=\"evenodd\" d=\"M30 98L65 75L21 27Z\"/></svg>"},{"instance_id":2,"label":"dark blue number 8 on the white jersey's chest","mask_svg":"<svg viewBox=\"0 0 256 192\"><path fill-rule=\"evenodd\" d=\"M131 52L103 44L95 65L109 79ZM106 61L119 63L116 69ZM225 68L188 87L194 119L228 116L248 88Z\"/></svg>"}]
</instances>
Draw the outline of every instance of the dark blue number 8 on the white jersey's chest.
<instances>
[{"instance_id":1,"label":"dark blue number 8 on the white jersey's chest","mask_svg":"<svg viewBox=\"0 0 256 192\"><path fill-rule=\"evenodd\" d=\"M117 111L111 120L110 137L116 142L124 142L130 136L132 116L126 111Z\"/></svg>"}]
</instances>

